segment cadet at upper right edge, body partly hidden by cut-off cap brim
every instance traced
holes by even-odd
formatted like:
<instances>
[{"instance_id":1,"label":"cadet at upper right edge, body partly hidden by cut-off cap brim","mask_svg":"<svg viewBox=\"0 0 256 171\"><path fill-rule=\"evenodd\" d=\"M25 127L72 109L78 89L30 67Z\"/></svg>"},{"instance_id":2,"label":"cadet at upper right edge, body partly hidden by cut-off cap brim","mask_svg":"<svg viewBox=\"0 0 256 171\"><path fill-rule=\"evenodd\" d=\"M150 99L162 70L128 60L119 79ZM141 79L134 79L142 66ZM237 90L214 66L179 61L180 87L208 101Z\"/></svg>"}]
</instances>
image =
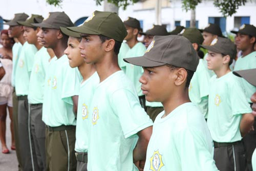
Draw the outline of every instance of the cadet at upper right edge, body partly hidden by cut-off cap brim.
<instances>
[{"instance_id":1,"label":"cadet at upper right edge, body partly hidden by cut-off cap brim","mask_svg":"<svg viewBox=\"0 0 256 171\"><path fill-rule=\"evenodd\" d=\"M232 33L237 34L236 36L236 45L237 48L242 51L242 56L239 57L234 66L234 71L247 70L256 68L256 52L254 51L254 45L256 44L256 28L253 25L242 25L239 31L231 31ZM242 84L245 88L245 96L249 103L251 103L250 97L256 91L256 87L248 83L242 78ZM256 122L254 121L253 127L256 127ZM251 156L252 151L256 147L256 130L250 131L243 138L247 163L249 170L251 170Z\"/></svg>"}]
</instances>

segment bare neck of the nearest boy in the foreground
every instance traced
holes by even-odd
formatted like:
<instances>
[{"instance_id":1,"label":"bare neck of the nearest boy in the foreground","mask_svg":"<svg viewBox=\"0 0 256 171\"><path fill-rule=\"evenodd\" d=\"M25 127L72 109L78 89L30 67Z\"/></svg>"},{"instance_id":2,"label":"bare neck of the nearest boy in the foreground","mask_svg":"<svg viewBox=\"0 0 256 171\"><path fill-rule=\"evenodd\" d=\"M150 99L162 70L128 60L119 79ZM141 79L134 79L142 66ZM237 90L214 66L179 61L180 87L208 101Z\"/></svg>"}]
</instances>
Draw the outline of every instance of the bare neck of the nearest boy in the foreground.
<instances>
[{"instance_id":1,"label":"bare neck of the nearest boy in the foreground","mask_svg":"<svg viewBox=\"0 0 256 171\"><path fill-rule=\"evenodd\" d=\"M162 102L164 108L164 115L162 118L166 117L181 104L187 102L190 102L188 97L188 89L184 90L184 87L181 87L180 90L174 91L174 93L170 95L168 99Z\"/></svg>"}]
</instances>

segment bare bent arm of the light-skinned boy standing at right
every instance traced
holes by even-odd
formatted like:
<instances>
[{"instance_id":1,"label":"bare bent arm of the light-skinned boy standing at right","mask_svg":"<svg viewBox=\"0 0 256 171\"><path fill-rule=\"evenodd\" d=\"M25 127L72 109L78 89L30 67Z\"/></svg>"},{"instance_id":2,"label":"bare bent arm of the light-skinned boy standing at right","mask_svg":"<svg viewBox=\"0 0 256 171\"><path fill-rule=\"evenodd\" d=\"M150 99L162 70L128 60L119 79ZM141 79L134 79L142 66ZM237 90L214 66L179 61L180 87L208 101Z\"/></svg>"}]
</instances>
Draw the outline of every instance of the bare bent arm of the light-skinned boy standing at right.
<instances>
[{"instance_id":1,"label":"bare bent arm of the light-skinned boy standing at right","mask_svg":"<svg viewBox=\"0 0 256 171\"><path fill-rule=\"evenodd\" d=\"M243 114L242 120L240 122L240 133L244 137L251 129L254 123L254 116L251 113Z\"/></svg>"}]
</instances>

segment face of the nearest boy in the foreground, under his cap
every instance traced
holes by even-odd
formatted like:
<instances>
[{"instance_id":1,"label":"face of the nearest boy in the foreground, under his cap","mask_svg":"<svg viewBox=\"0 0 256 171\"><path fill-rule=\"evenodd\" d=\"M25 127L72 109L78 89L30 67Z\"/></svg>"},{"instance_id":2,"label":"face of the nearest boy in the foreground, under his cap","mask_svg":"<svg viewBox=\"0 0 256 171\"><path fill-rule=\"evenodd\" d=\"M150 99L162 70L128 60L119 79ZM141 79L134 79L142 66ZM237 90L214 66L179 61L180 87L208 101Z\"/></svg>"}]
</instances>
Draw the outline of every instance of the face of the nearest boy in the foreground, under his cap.
<instances>
[{"instance_id":1,"label":"face of the nearest boy in the foreground, under his cap","mask_svg":"<svg viewBox=\"0 0 256 171\"><path fill-rule=\"evenodd\" d=\"M174 90L175 74L164 65L160 67L143 67L144 73L140 77L142 93L149 102L163 102Z\"/></svg>"}]
</instances>

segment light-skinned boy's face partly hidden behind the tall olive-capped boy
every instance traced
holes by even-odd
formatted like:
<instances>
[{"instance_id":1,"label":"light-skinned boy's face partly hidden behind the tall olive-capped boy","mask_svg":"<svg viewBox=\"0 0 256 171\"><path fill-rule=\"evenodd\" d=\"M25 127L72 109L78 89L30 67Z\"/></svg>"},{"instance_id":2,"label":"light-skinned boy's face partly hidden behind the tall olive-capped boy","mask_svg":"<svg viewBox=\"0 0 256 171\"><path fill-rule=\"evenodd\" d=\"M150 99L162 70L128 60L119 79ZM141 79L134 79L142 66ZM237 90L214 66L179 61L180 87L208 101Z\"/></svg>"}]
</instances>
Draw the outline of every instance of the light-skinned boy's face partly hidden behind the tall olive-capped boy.
<instances>
[{"instance_id":1,"label":"light-skinned boy's face partly hidden behind the tall olive-capped boy","mask_svg":"<svg viewBox=\"0 0 256 171\"><path fill-rule=\"evenodd\" d=\"M84 63L80 49L78 48L79 44L80 41L76 37L69 36L68 47L64 53L69 58L69 65L71 68L79 67Z\"/></svg>"}]
</instances>

